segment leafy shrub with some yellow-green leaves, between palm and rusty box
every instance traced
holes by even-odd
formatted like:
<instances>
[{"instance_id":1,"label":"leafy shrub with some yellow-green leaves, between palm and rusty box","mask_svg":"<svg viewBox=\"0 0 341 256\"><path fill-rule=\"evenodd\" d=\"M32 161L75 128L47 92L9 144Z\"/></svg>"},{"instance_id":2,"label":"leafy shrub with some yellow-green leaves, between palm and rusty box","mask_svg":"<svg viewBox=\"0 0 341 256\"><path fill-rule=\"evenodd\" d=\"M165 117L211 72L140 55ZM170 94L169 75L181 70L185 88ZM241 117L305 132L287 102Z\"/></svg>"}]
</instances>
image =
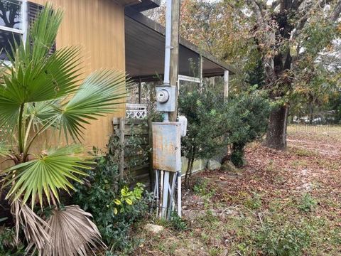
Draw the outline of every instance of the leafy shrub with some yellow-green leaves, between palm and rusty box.
<instances>
[{"instance_id":1,"label":"leafy shrub with some yellow-green leaves, between palm and rusty box","mask_svg":"<svg viewBox=\"0 0 341 256\"><path fill-rule=\"evenodd\" d=\"M102 157L97 166L87 170L87 186L77 186L72 196L84 210L92 213L103 241L110 248L108 255L129 252L135 241L129 237L131 225L148 212L150 195L139 184L132 191L118 179L115 161Z\"/></svg>"}]
</instances>

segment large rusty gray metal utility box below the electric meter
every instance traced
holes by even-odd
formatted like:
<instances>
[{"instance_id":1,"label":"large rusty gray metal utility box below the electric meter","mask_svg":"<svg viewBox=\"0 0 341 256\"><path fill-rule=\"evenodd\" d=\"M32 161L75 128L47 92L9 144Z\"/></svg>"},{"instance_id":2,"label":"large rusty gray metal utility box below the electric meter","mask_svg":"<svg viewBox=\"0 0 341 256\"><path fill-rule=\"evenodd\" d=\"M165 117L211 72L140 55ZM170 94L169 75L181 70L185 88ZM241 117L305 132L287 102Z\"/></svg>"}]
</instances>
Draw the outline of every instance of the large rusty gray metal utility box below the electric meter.
<instances>
[{"instance_id":1,"label":"large rusty gray metal utility box below the electric meter","mask_svg":"<svg viewBox=\"0 0 341 256\"><path fill-rule=\"evenodd\" d=\"M153 169L181 171L180 122L153 122Z\"/></svg>"}]
</instances>

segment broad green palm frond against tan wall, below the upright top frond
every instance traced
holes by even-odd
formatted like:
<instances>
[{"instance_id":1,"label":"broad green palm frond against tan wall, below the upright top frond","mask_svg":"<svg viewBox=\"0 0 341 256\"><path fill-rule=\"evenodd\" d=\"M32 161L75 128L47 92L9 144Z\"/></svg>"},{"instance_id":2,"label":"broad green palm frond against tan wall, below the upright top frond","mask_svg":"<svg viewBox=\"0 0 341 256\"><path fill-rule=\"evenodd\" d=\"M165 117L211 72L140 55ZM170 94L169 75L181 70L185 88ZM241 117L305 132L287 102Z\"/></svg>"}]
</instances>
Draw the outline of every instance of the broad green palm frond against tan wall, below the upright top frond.
<instances>
[{"instance_id":1,"label":"broad green palm frond against tan wall, below the upright top frond","mask_svg":"<svg viewBox=\"0 0 341 256\"><path fill-rule=\"evenodd\" d=\"M2 101L13 102L16 108L28 102L55 100L70 95L77 88L80 74L80 49L77 47L57 50L47 60L33 65L19 62L4 75Z\"/></svg>"}]
</instances>

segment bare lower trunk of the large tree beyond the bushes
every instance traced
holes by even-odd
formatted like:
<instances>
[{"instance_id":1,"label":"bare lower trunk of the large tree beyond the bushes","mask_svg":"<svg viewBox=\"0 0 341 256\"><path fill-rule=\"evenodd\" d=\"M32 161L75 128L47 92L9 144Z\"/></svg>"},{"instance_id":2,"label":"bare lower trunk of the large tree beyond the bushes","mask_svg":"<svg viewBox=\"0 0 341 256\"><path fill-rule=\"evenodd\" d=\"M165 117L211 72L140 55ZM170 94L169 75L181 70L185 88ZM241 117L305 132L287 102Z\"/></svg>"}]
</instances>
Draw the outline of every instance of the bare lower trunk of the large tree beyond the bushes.
<instances>
[{"instance_id":1,"label":"bare lower trunk of the large tree beyond the bushes","mask_svg":"<svg viewBox=\"0 0 341 256\"><path fill-rule=\"evenodd\" d=\"M286 122L288 119L288 106L283 105L273 110L270 114L268 132L265 145L271 149L286 149Z\"/></svg>"}]
</instances>

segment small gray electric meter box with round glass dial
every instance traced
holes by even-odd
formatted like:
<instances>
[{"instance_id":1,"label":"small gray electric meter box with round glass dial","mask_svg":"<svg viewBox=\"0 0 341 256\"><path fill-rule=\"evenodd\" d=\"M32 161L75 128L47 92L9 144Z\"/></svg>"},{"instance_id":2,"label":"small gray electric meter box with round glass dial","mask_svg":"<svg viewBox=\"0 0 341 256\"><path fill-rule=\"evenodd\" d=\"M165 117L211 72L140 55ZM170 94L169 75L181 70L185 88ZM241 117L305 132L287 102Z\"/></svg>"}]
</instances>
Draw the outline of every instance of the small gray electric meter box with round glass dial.
<instances>
[{"instance_id":1,"label":"small gray electric meter box with round glass dial","mask_svg":"<svg viewBox=\"0 0 341 256\"><path fill-rule=\"evenodd\" d=\"M156 87L156 110L161 112L175 111L175 93L176 87L162 85Z\"/></svg>"}]
</instances>

